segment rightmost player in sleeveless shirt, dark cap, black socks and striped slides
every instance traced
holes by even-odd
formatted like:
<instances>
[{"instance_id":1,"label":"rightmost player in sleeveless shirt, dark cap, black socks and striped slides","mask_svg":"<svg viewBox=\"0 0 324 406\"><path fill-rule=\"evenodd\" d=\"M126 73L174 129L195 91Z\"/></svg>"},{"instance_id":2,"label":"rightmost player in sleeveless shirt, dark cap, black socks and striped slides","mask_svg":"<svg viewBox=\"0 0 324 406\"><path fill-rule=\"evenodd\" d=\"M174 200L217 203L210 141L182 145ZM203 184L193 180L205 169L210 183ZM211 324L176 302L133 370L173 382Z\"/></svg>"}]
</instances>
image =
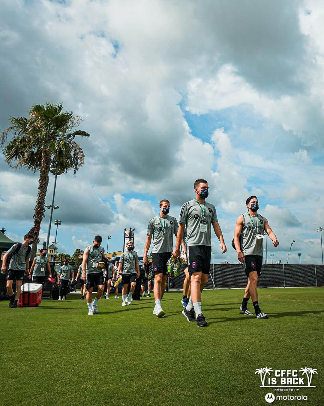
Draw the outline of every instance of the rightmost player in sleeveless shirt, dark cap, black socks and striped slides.
<instances>
[{"instance_id":1,"label":"rightmost player in sleeveless shirt, dark cap, black socks and striped slides","mask_svg":"<svg viewBox=\"0 0 324 406\"><path fill-rule=\"evenodd\" d=\"M262 268L264 231L269 235L274 247L279 245L279 241L275 233L271 230L268 220L257 213L259 209L257 197L248 197L245 204L247 206L247 212L237 218L234 230L234 245L237 258L243 262L245 274L249 279L240 307L240 314L246 316L252 315L247 309L247 302L251 297L256 318L267 319L269 318L268 315L262 313L260 310L258 292L256 290L258 277L260 276Z\"/></svg>"}]
</instances>

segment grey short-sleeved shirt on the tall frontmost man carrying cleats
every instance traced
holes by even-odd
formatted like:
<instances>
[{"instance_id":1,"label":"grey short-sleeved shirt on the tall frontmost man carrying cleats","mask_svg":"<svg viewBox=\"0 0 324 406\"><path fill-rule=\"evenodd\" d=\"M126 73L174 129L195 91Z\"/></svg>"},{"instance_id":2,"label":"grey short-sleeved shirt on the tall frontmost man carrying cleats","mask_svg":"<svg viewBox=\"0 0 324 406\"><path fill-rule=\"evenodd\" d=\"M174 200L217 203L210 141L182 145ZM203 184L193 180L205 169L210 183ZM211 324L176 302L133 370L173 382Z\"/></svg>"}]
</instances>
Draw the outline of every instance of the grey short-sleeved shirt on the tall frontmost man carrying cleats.
<instances>
[{"instance_id":1,"label":"grey short-sleeved shirt on the tall frontmost man carrying cleats","mask_svg":"<svg viewBox=\"0 0 324 406\"><path fill-rule=\"evenodd\" d=\"M206 245L211 246L211 225L217 222L215 206L205 201L205 216L203 216L204 203L197 203L192 199L184 203L180 210L179 223L187 228L186 246ZM207 221L207 232L200 231L201 220Z\"/></svg>"}]
</instances>

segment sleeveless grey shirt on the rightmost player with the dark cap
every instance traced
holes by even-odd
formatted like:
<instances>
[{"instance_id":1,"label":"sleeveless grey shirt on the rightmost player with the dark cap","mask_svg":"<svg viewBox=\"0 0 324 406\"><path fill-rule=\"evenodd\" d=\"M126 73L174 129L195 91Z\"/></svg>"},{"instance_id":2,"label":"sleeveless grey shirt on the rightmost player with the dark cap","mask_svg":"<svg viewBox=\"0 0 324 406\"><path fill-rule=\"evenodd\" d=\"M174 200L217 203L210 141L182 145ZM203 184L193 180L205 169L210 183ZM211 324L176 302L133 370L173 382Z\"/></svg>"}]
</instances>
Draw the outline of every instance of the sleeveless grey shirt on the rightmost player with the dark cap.
<instances>
[{"instance_id":1,"label":"sleeveless grey shirt on the rightmost player with the dark cap","mask_svg":"<svg viewBox=\"0 0 324 406\"><path fill-rule=\"evenodd\" d=\"M260 222L258 220L260 219ZM251 222L249 213L243 214L243 227L242 227L242 252L243 255L263 255L263 239L256 238L256 234L264 233L264 217L260 214L251 216L254 227ZM261 228L260 228L261 224ZM255 230L254 230L255 229Z\"/></svg>"}]
</instances>

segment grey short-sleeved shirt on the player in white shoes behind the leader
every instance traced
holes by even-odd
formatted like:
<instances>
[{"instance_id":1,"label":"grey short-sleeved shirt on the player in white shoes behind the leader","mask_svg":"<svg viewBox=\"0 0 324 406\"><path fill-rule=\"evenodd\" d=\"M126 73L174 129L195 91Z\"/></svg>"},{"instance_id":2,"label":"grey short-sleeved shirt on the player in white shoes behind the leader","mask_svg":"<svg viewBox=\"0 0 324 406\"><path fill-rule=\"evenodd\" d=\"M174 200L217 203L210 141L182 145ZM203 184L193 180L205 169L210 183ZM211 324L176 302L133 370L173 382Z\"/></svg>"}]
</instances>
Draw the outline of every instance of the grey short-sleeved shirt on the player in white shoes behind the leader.
<instances>
[{"instance_id":1,"label":"grey short-sleeved shirt on the player in white shoes behind the leader","mask_svg":"<svg viewBox=\"0 0 324 406\"><path fill-rule=\"evenodd\" d=\"M162 223L162 224L161 224ZM147 226L147 235L153 236L153 253L172 253L173 251L173 235L177 233L179 225L177 219L172 216L166 218L156 216L149 220Z\"/></svg>"}]
</instances>

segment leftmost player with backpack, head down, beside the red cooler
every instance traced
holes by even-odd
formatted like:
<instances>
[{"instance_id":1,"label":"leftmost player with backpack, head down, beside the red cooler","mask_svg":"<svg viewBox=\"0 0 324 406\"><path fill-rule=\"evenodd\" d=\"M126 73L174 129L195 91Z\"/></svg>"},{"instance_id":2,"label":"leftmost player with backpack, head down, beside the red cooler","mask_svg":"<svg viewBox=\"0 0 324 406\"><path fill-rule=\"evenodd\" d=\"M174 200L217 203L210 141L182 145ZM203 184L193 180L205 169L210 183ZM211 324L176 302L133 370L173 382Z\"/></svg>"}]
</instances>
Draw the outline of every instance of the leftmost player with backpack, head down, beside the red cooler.
<instances>
[{"instance_id":1,"label":"leftmost player with backpack, head down, beside the red cooler","mask_svg":"<svg viewBox=\"0 0 324 406\"><path fill-rule=\"evenodd\" d=\"M11 248L4 254L2 259L2 272L6 272L6 260L9 255L12 255L8 274L6 276L6 288L10 296L9 307L17 307L17 302L21 294L21 283L25 276L25 273L29 273L29 259L31 245L34 242L34 236L32 234L26 234L23 237L23 242L19 244L13 244ZM18 250L19 248L19 250ZM16 279L16 292L13 294L13 281Z\"/></svg>"}]
</instances>

